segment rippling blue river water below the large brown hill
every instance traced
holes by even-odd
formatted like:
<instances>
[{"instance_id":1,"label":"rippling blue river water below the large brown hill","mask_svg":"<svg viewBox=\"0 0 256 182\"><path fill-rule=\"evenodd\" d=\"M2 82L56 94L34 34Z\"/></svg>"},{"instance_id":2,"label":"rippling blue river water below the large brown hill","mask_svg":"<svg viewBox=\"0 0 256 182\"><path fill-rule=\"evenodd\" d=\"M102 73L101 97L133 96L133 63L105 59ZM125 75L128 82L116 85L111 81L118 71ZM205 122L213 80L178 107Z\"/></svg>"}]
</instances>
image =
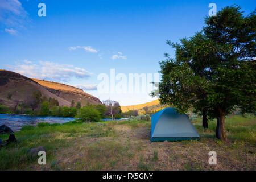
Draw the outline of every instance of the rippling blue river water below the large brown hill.
<instances>
[{"instance_id":1,"label":"rippling blue river water below the large brown hill","mask_svg":"<svg viewBox=\"0 0 256 182\"><path fill-rule=\"evenodd\" d=\"M24 125L36 126L39 122L47 123L65 123L74 121L74 118L63 117L40 117L31 115L19 115L19 114L0 114L0 125L7 125L13 131L19 131Z\"/></svg>"}]
</instances>

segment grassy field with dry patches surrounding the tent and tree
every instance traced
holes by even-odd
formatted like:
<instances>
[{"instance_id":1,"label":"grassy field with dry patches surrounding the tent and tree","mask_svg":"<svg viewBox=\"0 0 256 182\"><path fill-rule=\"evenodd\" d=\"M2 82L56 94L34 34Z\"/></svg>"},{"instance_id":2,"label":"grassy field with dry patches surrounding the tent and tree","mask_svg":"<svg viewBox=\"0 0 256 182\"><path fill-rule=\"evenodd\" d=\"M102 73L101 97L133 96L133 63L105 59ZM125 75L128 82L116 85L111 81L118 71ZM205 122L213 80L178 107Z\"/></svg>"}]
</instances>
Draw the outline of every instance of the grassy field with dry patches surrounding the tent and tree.
<instances>
[{"instance_id":1,"label":"grassy field with dry patches surrounding the tent and tree","mask_svg":"<svg viewBox=\"0 0 256 182\"><path fill-rule=\"evenodd\" d=\"M0 149L1 170L255 170L256 118L226 118L228 142L193 121L200 141L150 142L151 122L115 121L63 125L40 123L15 133L18 143ZM0 135L7 139L8 135ZM47 164L27 155L44 146ZM209 151L217 165L209 165Z\"/></svg>"}]
</instances>

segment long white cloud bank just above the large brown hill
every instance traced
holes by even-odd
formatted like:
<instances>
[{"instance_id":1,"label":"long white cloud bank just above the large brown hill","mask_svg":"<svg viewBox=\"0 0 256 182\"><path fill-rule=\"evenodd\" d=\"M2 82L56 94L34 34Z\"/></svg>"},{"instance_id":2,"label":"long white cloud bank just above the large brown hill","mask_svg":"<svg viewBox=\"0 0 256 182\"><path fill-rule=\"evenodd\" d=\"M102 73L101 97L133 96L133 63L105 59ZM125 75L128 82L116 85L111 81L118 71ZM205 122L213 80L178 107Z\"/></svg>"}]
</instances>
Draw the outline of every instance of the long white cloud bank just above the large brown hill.
<instances>
[{"instance_id":1,"label":"long white cloud bank just above the large brown hill","mask_svg":"<svg viewBox=\"0 0 256 182\"><path fill-rule=\"evenodd\" d=\"M31 64L31 61L23 60L24 63L7 65L11 71L20 73L30 78L38 78L49 81L68 82L72 77L88 78L93 73L84 68L74 67L69 64L58 64L49 61L39 61L39 64Z\"/></svg>"}]
</instances>

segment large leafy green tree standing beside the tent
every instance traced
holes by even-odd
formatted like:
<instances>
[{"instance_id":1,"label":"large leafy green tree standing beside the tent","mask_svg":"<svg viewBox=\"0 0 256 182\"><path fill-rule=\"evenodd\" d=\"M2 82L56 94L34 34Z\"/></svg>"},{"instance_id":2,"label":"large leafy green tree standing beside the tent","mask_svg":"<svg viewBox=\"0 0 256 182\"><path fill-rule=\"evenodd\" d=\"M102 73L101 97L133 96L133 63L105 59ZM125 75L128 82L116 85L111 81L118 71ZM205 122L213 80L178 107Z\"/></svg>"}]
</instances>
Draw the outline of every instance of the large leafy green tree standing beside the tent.
<instances>
[{"instance_id":1,"label":"large leafy green tree standing beside the tent","mask_svg":"<svg viewBox=\"0 0 256 182\"><path fill-rule=\"evenodd\" d=\"M174 104L180 113L194 107L217 118L216 137L222 140L226 114L236 106L242 112L256 107L256 16L255 11L243 16L240 9L225 7L217 16L205 18L202 32L180 44L167 42L176 49L176 60L166 54L167 60L160 62L160 102Z\"/></svg>"}]
</instances>

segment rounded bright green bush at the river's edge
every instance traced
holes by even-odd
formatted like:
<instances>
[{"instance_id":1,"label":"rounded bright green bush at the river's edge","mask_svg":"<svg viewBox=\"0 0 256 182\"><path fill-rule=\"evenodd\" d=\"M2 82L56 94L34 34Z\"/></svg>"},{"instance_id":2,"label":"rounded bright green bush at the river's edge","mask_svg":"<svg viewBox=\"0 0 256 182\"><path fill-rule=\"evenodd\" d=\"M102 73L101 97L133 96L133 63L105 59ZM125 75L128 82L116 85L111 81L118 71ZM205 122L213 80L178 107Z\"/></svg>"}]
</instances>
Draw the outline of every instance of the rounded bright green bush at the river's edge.
<instances>
[{"instance_id":1,"label":"rounded bright green bush at the river's edge","mask_svg":"<svg viewBox=\"0 0 256 182\"><path fill-rule=\"evenodd\" d=\"M100 121L100 113L90 106L85 106L79 109L76 118L80 118L82 121L86 122L97 122Z\"/></svg>"}]
</instances>

